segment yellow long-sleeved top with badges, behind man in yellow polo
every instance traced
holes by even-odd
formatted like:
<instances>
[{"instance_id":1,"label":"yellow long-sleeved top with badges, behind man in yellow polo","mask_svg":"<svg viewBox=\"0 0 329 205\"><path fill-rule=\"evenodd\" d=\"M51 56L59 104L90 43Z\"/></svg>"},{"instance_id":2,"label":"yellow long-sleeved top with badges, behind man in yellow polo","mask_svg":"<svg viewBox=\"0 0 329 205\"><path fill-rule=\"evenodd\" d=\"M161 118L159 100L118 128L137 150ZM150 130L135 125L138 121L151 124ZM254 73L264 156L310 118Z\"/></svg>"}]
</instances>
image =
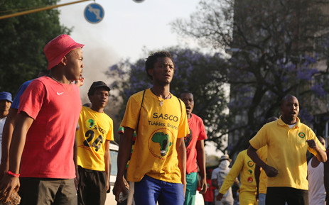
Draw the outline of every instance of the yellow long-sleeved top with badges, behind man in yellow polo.
<instances>
[{"instance_id":1,"label":"yellow long-sleeved top with badges, behind man in yellow polo","mask_svg":"<svg viewBox=\"0 0 329 205\"><path fill-rule=\"evenodd\" d=\"M257 186L254 179L254 168L255 164L247 155L247 150L240 152L220 188L220 193L225 194L232 186L235 178L240 174L241 186L239 192L253 192L256 194Z\"/></svg>"}]
</instances>

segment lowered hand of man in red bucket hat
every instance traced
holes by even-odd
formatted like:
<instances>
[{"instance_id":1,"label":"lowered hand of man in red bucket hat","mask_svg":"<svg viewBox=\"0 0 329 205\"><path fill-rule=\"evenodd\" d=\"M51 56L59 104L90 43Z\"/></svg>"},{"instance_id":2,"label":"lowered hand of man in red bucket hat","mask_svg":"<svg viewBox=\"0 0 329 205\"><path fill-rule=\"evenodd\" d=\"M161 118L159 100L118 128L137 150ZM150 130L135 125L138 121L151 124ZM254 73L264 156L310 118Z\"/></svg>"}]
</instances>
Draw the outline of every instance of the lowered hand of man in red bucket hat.
<instances>
[{"instance_id":1,"label":"lowered hand of man in red bucket hat","mask_svg":"<svg viewBox=\"0 0 329 205\"><path fill-rule=\"evenodd\" d=\"M12 192L15 191L18 192L18 189L20 187L19 184L19 178L13 177L9 174L4 174L4 177L2 178L0 182L0 193L4 196L4 203L9 201L9 197L11 196Z\"/></svg>"}]
</instances>

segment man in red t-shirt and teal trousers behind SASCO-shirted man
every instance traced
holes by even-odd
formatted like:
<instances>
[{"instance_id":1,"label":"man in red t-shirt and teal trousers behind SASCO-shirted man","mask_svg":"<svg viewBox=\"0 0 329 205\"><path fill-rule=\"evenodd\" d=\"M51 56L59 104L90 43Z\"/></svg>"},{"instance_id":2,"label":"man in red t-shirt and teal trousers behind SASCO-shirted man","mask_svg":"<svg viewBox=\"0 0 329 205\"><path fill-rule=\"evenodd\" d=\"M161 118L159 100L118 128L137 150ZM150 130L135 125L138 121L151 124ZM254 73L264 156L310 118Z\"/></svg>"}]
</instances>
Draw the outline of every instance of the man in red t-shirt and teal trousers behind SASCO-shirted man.
<instances>
[{"instance_id":1,"label":"man in red t-shirt and teal trousers behind SASCO-shirted man","mask_svg":"<svg viewBox=\"0 0 329 205\"><path fill-rule=\"evenodd\" d=\"M207 139L203 120L192 113L194 98L191 92L185 91L180 94L188 115L188 127L190 135L185 137L186 147L186 193L184 205L195 204L195 194L198 187L198 167L201 175L200 194L207 192L207 179L205 176L205 146L203 140ZM198 164L197 164L198 162Z\"/></svg>"}]
</instances>

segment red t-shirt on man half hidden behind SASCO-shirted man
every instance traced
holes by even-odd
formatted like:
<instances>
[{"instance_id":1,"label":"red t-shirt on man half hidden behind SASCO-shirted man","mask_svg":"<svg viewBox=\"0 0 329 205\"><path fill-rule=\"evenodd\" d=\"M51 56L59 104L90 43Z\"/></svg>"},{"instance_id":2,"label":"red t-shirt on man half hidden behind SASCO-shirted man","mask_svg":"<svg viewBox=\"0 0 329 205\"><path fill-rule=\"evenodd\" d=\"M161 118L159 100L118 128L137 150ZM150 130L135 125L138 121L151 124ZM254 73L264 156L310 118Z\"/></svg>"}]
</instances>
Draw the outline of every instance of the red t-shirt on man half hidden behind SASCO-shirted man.
<instances>
[{"instance_id":1,"label":"red t-shirt on man half hidden behind SASCO-shirted man","mask_svg":"<svg viewBox=\"0 0 329 205\"><path fill-rule=\"evenodd\" d=\"M190 135L184 138L186 146L186 172L198 172L197 164L197 150L195 148L198 140L207 139L207 133L205 133L205 126L203 120L191 113L191 117L188 119L188 127L190 128Z\"/></svg>"}]
</instances>

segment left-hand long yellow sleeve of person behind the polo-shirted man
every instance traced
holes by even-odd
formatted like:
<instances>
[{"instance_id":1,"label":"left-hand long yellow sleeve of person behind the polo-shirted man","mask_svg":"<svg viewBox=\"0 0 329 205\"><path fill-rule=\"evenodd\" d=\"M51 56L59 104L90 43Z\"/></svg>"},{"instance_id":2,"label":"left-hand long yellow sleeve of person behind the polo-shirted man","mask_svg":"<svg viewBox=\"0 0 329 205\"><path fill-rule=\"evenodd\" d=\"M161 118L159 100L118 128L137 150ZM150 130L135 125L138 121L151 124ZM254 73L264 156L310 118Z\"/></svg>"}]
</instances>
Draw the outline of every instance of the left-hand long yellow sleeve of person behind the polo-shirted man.
<instances>
[{"instance_id":1,"label":"left-hand long yellow sleeve of person behind the polo-shirted man","mask_svg":"<svg viewBox=\"0 0 329 205\"><path fill-rule=\"evenodd\" d=\"M232 186L235 178L239 175L239 173L242 171L243 167L243 156L242 153L239 153L237 155L237 159L234 162L234 165L232 166L230 172L227 174L222 187L220 187L220 193L225 194L228 189Z\"/></svg>"}]
</instances>

